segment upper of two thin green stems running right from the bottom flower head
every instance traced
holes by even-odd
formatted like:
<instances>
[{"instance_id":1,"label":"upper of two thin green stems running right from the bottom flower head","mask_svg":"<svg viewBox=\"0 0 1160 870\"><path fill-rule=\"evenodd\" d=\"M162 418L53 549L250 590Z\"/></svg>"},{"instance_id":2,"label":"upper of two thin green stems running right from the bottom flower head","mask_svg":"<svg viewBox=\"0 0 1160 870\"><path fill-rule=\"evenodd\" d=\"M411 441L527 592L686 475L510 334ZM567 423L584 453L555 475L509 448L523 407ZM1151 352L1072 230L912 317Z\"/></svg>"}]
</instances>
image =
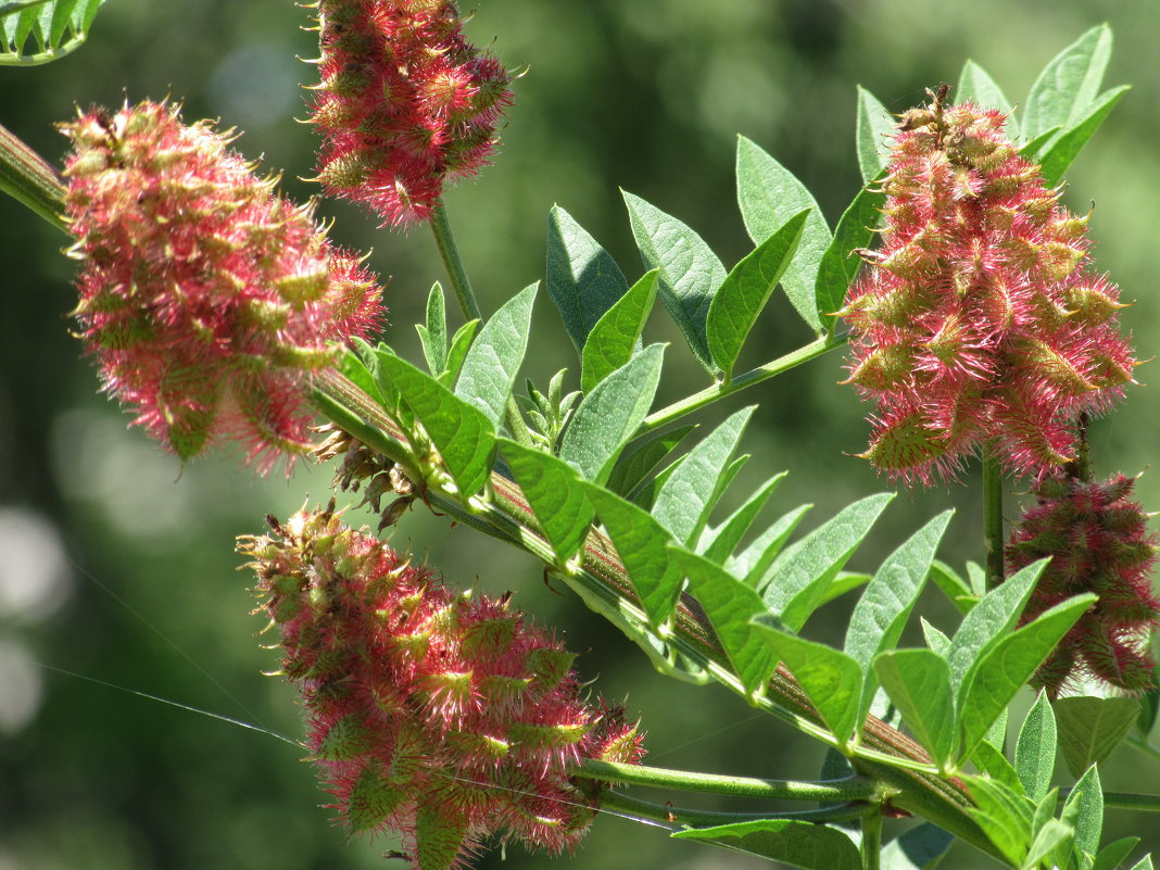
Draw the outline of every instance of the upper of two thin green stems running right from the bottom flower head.
<instances>
[{"instance_id":1,"label":"upper of two thin green stems running right from the bottom flower head","mask_svg":"<svg viewBox=\"0 0 1160 870\"><path fill-rule=\"evenodd\" d=\"M594 759L582 759L580 766L571 769L570 773L573 776L588 780L608 780L616 783L679 791L778 800L867 800L875 797L878 791L870 780L853 776L825 782L757 780L748 776L718 776L687 770L668 770L659 767L645 767L644 764L618 764Z\"/></svg>"}]
</instances>

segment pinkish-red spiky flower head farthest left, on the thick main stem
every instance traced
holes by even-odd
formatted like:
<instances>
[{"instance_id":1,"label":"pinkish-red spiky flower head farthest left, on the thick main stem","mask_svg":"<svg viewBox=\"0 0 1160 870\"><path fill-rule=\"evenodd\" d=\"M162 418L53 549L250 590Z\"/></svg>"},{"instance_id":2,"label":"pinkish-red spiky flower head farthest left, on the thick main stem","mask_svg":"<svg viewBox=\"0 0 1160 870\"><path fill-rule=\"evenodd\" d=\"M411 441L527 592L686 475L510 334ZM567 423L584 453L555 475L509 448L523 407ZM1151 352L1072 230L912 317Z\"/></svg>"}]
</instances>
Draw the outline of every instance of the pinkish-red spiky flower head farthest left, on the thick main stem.
<instances>
[{"instance_id":1,"label":"pinkish-red spiky flower head farthest left, on the thick main stem","mask_svg":"<svg viewBox=\"0 0 1160 870\"><path fill-rule=\"evenodd\" d=\"M79 335L104 389L182 459L238 440L269 470L309 449L305 378L365 335L380 288L209 122L143 102L79 113L66 206Z\"/></svg>"}]
</instances>

